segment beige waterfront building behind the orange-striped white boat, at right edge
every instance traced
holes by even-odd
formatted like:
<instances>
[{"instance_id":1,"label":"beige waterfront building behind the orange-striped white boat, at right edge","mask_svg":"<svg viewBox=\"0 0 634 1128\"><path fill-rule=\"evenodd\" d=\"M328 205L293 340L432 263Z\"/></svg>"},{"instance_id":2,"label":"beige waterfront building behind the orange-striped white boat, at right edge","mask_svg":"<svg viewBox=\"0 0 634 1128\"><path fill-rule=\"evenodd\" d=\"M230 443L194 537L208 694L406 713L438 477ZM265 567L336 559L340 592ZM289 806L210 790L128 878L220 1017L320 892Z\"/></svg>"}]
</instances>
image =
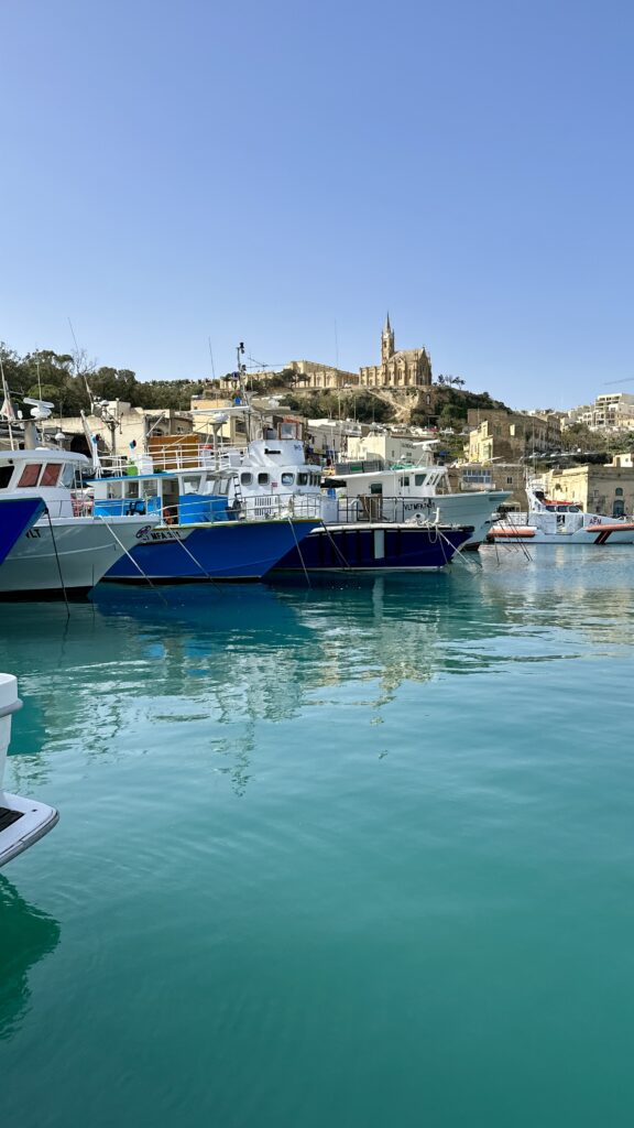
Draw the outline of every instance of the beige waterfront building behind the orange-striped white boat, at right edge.
<instances>
[{"instance_id":1,"label":"beige waterfront building behind the orange-striped white boat, at right edge","mask_svg":"<svg viewBox=\"0 0 634 1128\"><path fill-rule=\"evenodd\" d=\"M632 458L617 456L609 466L570 466L551 470L546 475L546 490L554 501L560 497L562 501L574 501L588 513L629 517L634 513Z\"/></svg>"}]
</instances>

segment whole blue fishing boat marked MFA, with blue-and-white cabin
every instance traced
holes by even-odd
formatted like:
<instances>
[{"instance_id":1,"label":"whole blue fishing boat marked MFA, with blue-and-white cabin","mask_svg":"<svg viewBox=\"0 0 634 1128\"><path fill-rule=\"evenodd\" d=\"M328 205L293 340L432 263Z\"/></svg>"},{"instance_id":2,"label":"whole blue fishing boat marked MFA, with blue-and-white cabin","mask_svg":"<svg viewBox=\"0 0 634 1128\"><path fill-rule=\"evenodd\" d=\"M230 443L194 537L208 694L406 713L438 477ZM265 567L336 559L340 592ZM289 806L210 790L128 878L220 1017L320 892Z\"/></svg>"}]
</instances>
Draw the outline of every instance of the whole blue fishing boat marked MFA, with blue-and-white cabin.
<instances>
[{"instance_id":1,"label":"whole blue fishing boat marked MFA, with blue-and-white cabin","mask_svg":"<svg viewBox=\"0 0 634 1128\"><path fill-rule=\"evenodd\" d=\"M239 499L229 503L229 476L213 466L96 478L89 487L95 515L160 518L139 530L106 581L259 580L318 523L294 515L288 500L273 513L270 506L262 515L247 513Z\"/></svg>"}]
</instances>

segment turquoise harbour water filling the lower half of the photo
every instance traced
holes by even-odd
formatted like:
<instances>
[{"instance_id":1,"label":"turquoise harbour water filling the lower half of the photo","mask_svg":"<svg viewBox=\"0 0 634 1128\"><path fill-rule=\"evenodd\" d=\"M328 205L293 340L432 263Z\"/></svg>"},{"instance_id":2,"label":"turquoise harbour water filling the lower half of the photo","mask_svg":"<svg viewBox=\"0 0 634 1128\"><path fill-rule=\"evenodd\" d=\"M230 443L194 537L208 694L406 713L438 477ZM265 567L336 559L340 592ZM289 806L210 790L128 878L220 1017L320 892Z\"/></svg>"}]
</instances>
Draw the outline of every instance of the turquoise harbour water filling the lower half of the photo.
<instances>
[{"instance_id":1,"label":"turquoise harbour water filling the lower half of the photo","mask_svg":"<svg viewBox=\"0 0 634 1128\"><path fill-rule=\"evenodd\" d=\"M20 1128L634 1120L634 550L1 610Z\"/></svg>"}]
</instances>

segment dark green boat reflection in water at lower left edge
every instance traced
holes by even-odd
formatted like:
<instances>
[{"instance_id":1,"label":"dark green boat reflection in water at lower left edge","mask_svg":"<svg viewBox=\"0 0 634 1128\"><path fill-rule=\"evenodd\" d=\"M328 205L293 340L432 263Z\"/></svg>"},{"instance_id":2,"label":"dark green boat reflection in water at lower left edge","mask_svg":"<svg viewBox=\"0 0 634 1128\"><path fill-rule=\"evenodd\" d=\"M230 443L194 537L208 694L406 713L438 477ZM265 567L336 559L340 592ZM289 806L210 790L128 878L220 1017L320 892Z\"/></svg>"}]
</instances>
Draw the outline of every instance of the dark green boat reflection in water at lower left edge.
<instances>
[{"instance_id":1,"label":"dark green boat reflection in water at lower left edge","mask_svg":"<svg viewBox=\"0 0 634 1128\"><path fill-rule=\"evenodd\" d=\"M54 951L60 925L0 878L0 1040L16 1032L28 1007L29 970Z\"/></svg>"}]
</instances>

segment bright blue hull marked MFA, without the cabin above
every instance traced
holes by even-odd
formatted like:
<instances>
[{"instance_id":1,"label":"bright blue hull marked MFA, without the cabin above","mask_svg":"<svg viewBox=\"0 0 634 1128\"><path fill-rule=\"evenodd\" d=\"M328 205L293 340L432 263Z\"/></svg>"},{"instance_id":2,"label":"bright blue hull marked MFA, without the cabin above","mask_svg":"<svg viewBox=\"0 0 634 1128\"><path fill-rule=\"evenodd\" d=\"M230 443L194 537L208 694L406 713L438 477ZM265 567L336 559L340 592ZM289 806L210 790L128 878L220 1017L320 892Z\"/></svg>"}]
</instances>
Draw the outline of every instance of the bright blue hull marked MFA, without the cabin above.
<instances>
[{"instance_id":1,"label":"bright blue hull marked MFA, without the cabin above","mask_svg":"<svg viewBox=\"0 0 634 1128\"><path fill-rule=\"evenodd\" d=\"M192 583L204 580L261 580L315 521L218 521L152 529L130 556L122 556L105 580ZM132 557L132 558L131 558ZM138 566L137 566L138 565Z\"/></svg>"}]
</instances>

